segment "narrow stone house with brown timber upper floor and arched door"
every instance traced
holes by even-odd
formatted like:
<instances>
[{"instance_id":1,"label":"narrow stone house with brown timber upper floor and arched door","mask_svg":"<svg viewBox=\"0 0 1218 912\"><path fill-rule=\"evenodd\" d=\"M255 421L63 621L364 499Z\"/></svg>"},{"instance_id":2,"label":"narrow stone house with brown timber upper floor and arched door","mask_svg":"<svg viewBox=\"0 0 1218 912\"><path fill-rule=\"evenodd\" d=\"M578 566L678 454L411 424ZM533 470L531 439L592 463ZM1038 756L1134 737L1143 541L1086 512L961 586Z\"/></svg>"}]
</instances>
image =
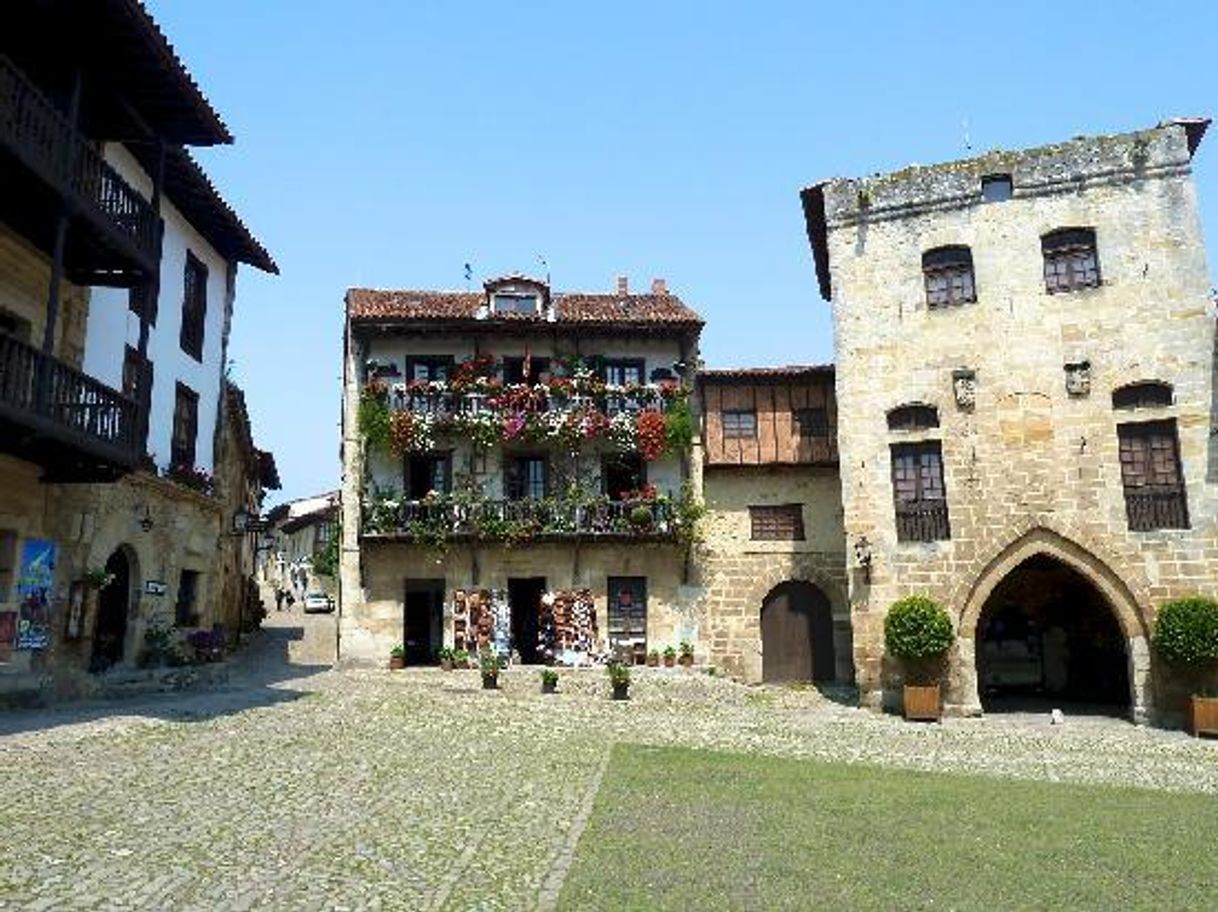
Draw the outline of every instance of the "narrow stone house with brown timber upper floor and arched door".
<instances>
[{"instance_id":1,"label":"narrow stone house with brown timber upper floor and arched door","mask_svg":"<svg viewBox=\"0 0 1218 912\"><path fill-rule=\"evenodd\" d=\"M708 658L750 683L850 682L833 368L698 374Z\"/></svg>"}]
</instances>

